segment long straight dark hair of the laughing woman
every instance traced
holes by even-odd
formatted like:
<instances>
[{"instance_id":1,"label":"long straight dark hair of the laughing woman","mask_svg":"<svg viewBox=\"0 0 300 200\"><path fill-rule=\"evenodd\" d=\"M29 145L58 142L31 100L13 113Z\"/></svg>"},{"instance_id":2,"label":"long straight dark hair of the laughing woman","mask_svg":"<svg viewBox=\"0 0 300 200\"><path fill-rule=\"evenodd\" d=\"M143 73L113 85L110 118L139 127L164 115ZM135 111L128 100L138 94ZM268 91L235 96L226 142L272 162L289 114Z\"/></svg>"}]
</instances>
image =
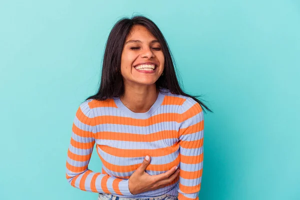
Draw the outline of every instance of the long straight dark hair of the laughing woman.
<instances>
[{"instance_id":1,"label":"long straight dark hair of the laughing woman","mask_svg":"<svg viewBox=\"0 0 300 200\"><path fill-rule=\"evenodd\" d=\"M157 38L161 45L164 55L163 75L155 82L157 89L168 89L173 94L188 96L197 101L201 107L212 112L202 101L198 99L201 95L189 95L182 91L176 77L173 64L173 56L169 50L168 44L156 24L145 16L137 15L131 18L123 17L119 19L112 27L106 44L103 56L103 66L101 72L100 87L96 94L87 99L106 100L112 97L120 97L124 93L124 83L120 72L121 53L126 36L133 25L143 25ZM205 110L204 110L205 112Z\"/></svg>"}]
</instances>

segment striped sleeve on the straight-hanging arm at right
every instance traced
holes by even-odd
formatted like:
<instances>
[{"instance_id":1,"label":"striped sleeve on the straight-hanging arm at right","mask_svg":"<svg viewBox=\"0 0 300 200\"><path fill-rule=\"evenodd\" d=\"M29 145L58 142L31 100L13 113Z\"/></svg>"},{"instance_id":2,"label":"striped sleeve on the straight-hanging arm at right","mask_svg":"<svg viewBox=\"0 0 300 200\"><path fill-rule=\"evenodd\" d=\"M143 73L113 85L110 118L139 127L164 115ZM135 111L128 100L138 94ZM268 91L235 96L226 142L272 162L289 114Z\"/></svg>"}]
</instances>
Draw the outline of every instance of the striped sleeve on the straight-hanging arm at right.
<instances>
[{"instance_id":1,"label":"striped sleeve on the straight-hanging arm at right","mask_svg":"<svg viewBox=\"0 0 300 200\"><path fill-rule=\"evenodd\" d=\"M198 200L203 163L203 111L199 103L187 98L181 115L178 200Z\"/></svg>"}]
</instances>

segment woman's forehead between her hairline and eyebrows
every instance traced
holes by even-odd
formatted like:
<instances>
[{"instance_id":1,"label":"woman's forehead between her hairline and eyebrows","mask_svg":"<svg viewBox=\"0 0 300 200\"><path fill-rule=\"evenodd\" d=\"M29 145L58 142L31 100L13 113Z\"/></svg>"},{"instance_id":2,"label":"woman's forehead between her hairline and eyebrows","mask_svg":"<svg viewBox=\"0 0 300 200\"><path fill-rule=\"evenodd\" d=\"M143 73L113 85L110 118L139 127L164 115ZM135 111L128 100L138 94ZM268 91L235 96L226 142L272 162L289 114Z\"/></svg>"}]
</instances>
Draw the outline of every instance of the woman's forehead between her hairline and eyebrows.
<instances>
[{"instance_id":1,"label":"woman's forehead between her hairline and eyebrows","mask_svg":"<svg viewBox=\"0 0 300 200\"><path fill-rule=\"evenodd\" d=\"M145 26L133 25L126 37L126 41L129 39L152 40L156 38Z\"/></svg>"}]
</instances>

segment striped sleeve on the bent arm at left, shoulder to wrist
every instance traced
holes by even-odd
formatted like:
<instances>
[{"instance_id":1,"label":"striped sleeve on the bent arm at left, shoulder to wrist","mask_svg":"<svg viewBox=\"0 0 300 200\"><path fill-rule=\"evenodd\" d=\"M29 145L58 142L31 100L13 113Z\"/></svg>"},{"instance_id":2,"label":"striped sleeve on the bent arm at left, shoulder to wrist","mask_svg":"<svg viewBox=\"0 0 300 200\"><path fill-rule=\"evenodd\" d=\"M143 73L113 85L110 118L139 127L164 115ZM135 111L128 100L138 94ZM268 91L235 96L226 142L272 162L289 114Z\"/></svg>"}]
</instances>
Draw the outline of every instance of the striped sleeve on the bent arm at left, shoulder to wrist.
<instances>
[{"instance_id":1,"label":"striped sleeve on the bent arm at left, shoulder to wrist","mask_svg":"<svg viewBox=\"0 0 300 200\"><path fill-rule=\"evenodd\" d=\"M88 102L90 100L80 104L74 117L67 151L66 178L73 187L84 191L132 196L128 188L128 179L88 169L96 133L94 115Z\"/></svg>"}]
</instances>

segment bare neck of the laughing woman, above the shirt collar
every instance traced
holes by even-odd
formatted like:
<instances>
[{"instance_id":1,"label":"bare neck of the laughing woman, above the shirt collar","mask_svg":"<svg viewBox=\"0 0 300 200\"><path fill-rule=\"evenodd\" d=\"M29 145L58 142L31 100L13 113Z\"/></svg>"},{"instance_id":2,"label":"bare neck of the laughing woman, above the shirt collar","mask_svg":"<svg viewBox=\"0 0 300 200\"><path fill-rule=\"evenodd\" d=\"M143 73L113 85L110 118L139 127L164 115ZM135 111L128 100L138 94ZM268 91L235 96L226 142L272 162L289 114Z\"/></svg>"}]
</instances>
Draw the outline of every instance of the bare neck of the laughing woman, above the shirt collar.
<instances>
[{"instance_id":1,"label":"bare neck of the laughing woman, above the shirt collar","mask_svg":"<svg viewBox=\"0 0 300 200\"><path fill-rule=\"evenodd\" d=\"M158 96L155 84L126 85L120 97L122 103L133 112L146 112L154 104Z\"/></svg>"}]
</instances>

